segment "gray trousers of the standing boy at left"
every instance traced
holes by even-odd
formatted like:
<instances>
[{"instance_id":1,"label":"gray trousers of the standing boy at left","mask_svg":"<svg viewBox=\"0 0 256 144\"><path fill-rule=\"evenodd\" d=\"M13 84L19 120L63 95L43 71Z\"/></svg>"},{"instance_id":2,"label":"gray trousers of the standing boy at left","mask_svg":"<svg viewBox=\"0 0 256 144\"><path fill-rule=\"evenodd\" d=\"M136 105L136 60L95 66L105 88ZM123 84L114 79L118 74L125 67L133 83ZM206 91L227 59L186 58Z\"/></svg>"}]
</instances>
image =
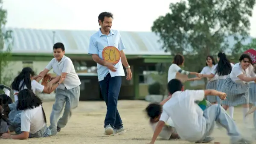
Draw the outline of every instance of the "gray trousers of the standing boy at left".
<instances>
[{"instance_id":1,"label":"gray trousers of the standing boy at left","mask_svg":"<svg viewBox=\"0 0 256 144\"><path fill-rule=\"evenodd\" d=\"M76 86L73 89L56 89L55 103L52 106L52 113L50 116L50 129L57 127L63 128L66 126L72 115L72 109L78 107L79 97L80 86ZM63 115L58 119L63 109Z\"/></svg>"}]
</instances>

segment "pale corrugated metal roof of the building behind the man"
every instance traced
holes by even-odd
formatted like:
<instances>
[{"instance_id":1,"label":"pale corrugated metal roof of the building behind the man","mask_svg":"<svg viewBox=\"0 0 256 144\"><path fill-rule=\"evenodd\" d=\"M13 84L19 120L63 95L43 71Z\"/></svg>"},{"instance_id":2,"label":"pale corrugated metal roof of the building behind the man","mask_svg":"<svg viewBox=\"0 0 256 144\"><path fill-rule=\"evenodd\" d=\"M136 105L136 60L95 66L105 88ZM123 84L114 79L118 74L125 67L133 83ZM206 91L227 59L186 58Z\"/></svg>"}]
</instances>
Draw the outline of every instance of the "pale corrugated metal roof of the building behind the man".
<instances>
[{"instance_id":1,"label":"pale corrugated metal roof of the building behind the man","mask_svg":"<svg viewBox=\"0 0 256 144\"><path fill-rule=\"evenodd\" d=\"M52 53L53 43L62 42L68 54L87 54L90 36L96 31L12 28L15 53ZM55 32L55 36L53 34ZM153 32L122 32L125 53L130 55L170 55L161 49Z\"/></svg>"}]
</instances>

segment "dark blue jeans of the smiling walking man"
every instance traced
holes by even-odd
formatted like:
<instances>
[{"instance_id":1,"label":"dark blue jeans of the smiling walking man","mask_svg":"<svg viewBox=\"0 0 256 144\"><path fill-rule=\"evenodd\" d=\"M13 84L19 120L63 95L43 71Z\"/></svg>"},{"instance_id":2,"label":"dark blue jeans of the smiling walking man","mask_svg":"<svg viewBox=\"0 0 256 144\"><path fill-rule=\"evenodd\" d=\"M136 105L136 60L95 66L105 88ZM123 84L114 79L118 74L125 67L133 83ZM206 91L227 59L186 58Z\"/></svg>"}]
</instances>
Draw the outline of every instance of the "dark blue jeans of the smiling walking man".
<instances>
[{"instance_id":1,"label":"dark blue jeans of the smiling walking man","mask_svg":"<svg viewBox=\"0 0 256 144\"><path fill-rule=\"evenodd\" d=\"M107 104L107 114L105 117L104 127L109 124L115 129L122 128L122 119L117 110L117 100L122 84L122 76L111 78L110 73L106 75L104 80L99 81L102 97Z\"/></svg>"}]
</instances>

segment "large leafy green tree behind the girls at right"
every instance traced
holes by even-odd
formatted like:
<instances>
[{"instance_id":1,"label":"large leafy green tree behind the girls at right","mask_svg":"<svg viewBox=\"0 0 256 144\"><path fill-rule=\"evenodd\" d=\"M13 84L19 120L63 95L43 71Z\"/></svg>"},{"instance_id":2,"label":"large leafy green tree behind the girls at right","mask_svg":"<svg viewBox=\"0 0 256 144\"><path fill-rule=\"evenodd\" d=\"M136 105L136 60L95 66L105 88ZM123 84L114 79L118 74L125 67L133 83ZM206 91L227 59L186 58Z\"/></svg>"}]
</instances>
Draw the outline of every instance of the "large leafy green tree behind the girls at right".
<instances>
[{"instance_id":1,"label":"large leafy green tree behind the girls at right","mask_svg":"<svg viewBox=\"0 0 256 144\"><path fill-rule=\"evenodd\" d=\"M255 0L187 0L171 3L170 13L154 21L152 31L160 36L163 49L172 55L189 55L186 68L198 71L207 55L230 49L228 36L236 41L237 53L250 29ZM191 56L192 55L192 56Z\"/></svg>"}]
</instances>

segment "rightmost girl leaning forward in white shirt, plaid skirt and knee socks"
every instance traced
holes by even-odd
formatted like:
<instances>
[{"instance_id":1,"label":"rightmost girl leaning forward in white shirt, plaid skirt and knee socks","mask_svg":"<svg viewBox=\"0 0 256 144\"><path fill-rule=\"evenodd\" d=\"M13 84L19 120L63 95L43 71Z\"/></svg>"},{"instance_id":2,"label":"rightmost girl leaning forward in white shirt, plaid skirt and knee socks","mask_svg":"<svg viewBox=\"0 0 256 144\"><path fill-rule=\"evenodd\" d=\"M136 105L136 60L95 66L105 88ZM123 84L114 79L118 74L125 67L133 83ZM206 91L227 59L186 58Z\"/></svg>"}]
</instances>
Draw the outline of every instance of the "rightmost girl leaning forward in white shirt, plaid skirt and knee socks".
<instances>
[{"instance_id":1,"label":"rightmost girl leaning forward in white shirt, plaid skirt and knee socks","mask_svg":"<svg viewBox=\"0 0 256 144\"><path fill-rule=\"evenodd\" d=\"M244 124L247 127L248 119L245 114L249 110L248 104L248 89L250 81L256 80L256 75L253 72L252 60L249 55L242 54L239 58L239 63L236 63L222 85L221 92L227 93L227 100L223 101L223 108L242 105Z\"/></svg>"}]
</instances>

